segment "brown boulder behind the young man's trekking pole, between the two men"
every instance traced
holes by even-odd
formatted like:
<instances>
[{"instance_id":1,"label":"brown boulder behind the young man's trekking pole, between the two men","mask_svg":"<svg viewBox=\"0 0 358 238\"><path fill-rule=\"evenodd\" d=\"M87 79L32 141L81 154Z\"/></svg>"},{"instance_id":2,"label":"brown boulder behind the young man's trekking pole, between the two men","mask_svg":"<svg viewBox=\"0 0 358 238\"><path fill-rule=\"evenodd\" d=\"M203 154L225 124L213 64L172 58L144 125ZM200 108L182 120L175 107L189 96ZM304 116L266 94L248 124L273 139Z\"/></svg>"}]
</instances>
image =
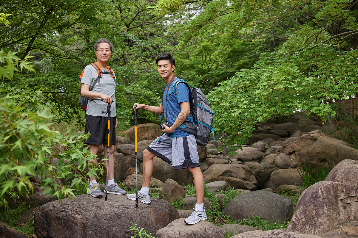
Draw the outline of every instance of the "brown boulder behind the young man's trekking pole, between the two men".
<instances>
[{"instance_id":1,"label":"brown boulder behind the young man's trekking pole, between the two men","mask_svg":"<svg viewBox=\"0 0 358 238\"><path fill-rule=\"evenodd\" d=\"M137 126L137 141L155 140L163 131L160 126L154 123L144 123ZM132 126L126 131L122 131L122 136L125 136L135 143L135 127Z\"/></svg>"}]
</instances>

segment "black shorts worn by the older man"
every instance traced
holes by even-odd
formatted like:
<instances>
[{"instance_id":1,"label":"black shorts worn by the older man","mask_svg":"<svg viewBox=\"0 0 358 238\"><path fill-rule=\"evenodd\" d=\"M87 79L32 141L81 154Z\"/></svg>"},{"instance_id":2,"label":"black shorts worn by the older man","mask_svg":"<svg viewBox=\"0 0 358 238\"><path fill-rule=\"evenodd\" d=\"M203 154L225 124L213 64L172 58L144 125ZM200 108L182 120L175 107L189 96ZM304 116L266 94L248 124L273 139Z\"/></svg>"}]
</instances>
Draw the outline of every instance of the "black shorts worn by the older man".
<instances>
[{"instance_id":1,"label":"black shorts worn by the older man","mask_svg":"<svg viewBox=\"0 0 358 238\"><path fill-rule=\"evenodd\" d=\"M107 145L108 118L86 115L84 133L90 133L86 144ZM116 145L116 117L110 121L110 145Z\"/></svg>"}]
</instances>

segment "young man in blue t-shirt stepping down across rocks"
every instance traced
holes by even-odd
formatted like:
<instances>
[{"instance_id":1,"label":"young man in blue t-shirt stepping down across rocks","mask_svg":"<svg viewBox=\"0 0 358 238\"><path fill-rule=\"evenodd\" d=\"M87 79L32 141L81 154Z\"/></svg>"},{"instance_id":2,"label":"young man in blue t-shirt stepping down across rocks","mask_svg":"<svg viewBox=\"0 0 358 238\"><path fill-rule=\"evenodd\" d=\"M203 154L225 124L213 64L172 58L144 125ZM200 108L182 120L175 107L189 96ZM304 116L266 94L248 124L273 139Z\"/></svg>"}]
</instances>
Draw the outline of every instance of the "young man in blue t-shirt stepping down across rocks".
<instances>
[{"instance_id":1,"label":"young man in blue t-shirt stepping down across rocks","mask_svg":"<svg viewBox=\"0 0 358 238\"><path fill-rule=\"evenodd\" d=\"M158 156L170 164L173 169L188 168L193 174L197 204L194 212L185 219L187 224L195 224L207 219L204 208L204 178L199 167L199 155L195 136L178 128L182 123L192 123L190 114L189 90L183 83L177 87L177 98L170 93L175 81L175 60L170 54L162 54L156 59L159 75L165 80L166 86L163 93L163 107L148 106L135 103L134 110L144 110L160 114L162 111L169 126L163 128L164 134L158 137L143 152L143 184L138 192L138 200L142 203L150 203L149 184L153 172L153 158ZM190 118L192 120L190 120ZM127 194L127 198L136 200L136 194Z\"/></svg>"}]
</instances>

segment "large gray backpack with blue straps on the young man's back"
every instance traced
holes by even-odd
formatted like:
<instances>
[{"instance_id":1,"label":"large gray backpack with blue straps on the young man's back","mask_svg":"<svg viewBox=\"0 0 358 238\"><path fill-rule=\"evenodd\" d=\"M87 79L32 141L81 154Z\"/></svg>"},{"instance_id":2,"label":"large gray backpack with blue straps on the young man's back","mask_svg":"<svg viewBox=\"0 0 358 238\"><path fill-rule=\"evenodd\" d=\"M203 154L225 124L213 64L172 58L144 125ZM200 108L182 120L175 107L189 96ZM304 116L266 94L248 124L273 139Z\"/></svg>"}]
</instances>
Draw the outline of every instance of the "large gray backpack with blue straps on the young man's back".
<instances>
[{"instance_id":1,"label":"large gray backpack with blue straps on the young man's back","mask_svg":"<svg viewBox=\"0 0 358 238\"><path fill-rule=\"evenodd\" d=\"M194 124L183 123L179 128L182 131L194 134L197 145L205 146L209 142L210 133L213 134L215 140L214 130L211 127L215 113L210 109L209 102L200 88L191 87L182 79L176 78L176 81L174 81L173 91L170 93L174 93L175 98L177 98L176 91L179 83L184 83L189 89L190 113L194 120Z\"/></svg>"}]
</instances>

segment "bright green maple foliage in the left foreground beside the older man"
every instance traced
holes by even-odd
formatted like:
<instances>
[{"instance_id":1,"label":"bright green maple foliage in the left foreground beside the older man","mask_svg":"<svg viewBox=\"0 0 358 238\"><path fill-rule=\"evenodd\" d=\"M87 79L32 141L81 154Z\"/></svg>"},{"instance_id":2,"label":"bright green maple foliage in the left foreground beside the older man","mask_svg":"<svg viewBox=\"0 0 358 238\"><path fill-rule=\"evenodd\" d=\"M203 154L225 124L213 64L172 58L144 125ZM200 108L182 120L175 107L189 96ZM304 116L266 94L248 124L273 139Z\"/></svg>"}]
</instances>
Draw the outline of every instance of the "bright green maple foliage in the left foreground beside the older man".
<instances>
[{"instance_id":1,"label":"bright green maple foliage in the left foreground beside the older man","mask_svg":"<svg viewBox=\"0 0 358 238\"><path fill-rule=\"evenodd\" d=\"M29 179L37 175L43 193L60 201L63 197L72 198L73 188L78 188L87 180L86 176L98 170L84 172L93 155L84 147L83 135L71 134L69 130L62 135L49 130L49 124L44 121L50 116L43 111L24 111L25 101L18 103L17 96L0 99L0 204L6 206L7 195L28 196L28 191L33 191Z\"/></svg>"}]
</instances>

